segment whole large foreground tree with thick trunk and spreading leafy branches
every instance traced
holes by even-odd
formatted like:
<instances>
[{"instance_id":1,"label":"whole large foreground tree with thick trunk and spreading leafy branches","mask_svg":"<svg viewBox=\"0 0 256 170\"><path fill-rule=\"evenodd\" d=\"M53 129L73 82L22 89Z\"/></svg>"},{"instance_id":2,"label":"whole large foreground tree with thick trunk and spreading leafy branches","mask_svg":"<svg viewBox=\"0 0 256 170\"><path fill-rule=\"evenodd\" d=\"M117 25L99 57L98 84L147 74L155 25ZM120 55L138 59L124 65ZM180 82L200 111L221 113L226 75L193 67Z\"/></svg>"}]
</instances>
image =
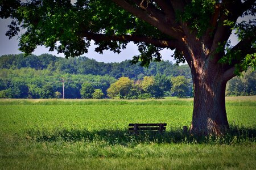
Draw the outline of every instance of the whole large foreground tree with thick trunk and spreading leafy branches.
<instances>
[{"instance_id":1,"label":"whole large foreground tree with thick trunk and spreading leafy branches","mask_svg":"<svg viewBox=\"0 0 256 170\"><path fill-rule=\"evenodd\" d=\"M175 49L178 62L191 68L194 107L191 133L222 134L229 128L225 88L248 66L255 66L255 19L237 22L240 16L255 16L255 1L1 1L1 18L13 18L6 35L20 36L26 54L44 44L66 57L88 52L90 40L96 52L121 52L133 41L141 53L133 62L148 66L159 61L163 48ZM228 44L232 29L239 42ZM56 42L59 42L56 43Z\"/></svg>"}]
</instances>

